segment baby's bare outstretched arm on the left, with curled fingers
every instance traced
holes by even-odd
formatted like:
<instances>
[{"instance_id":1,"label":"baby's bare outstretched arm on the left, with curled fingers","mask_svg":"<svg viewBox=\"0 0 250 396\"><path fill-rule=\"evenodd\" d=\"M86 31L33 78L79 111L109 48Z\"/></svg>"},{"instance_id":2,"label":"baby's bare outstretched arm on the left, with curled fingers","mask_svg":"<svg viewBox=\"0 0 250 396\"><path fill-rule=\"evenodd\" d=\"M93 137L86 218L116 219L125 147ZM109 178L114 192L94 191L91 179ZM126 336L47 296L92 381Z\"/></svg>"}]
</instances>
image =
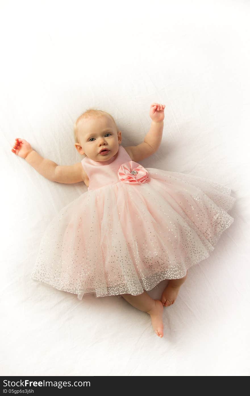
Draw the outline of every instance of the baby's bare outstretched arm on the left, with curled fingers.
<instances>
[{"instance_id":1,"label":"baby's bare outstretched arm on the left, with curled fingers","mask_svg":"<svg viewBox=\"0 0 250 396\"><path fill-rule=\"evenodd\" d=\"M55 162L41 157L26 140L16 139L15 143L11 151L24 158L28 164L33 166L46 179L57 181L58 183L85 182L85 172L81 162L70 166L57 165Z\"/></svg>"}]
</instances>

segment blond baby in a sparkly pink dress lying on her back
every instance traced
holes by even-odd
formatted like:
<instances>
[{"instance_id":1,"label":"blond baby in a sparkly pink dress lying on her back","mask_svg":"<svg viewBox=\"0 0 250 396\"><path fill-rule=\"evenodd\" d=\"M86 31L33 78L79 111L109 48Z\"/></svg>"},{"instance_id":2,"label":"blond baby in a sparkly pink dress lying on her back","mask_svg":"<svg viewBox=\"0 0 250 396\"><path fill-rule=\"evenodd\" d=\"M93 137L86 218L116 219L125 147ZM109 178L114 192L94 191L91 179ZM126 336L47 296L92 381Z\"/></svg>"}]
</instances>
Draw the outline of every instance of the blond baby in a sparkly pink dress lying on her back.
<instances>
[{"instance_id":1,"label":"blond baby in a sparkly pink dress lying on her back","mask_svg":"<svg viewBox=\"0 0 250 396\"><path fill-rule=\"evenodd\" d=\"M11 150L51 181L84 181L88 187L77 206L72 204L72 221L63 217L64 209L56 218L63 234L59 232L55 236L54 221L54 228L51 226L49 230L49 249L44 237L32 278L78 296L85 293L96 293L97 297L122 295L133 307L150 315L159 337L164 335L164 307L175 302L187 269L213 250L211 240L207 243L207 235L216 234L215 219L218 218L222 230L232 223L226 206L234 202L229 196L221 213L222 206L216 206L219 195L218 202L207 201L209 187L206 194L195 188L201 178L138 164L160 146L164 109L165 105L152 103L149 112L152 123L144 142L124 148L120 146L122 134L113 117L102 110L87 110L74 126L75 148L79 154L85 154L85 158L71 166L57 165L41 157L21 138L15 140ZM190 178L192 183L188 184ZM209 183L206 186L210 186ZM202 196L200 201L198 195ZM214 193L211 196L214 198ZM115 204L109 206L111 201ZM87 206L91 212L83 210ZM198 215L204 218L201 226L195 222L194 216ZM70 232L68 227L73 227ZM79 232L77 242L72 235ZM62 253L53 262L59 245ZM82 251L78 250L79 246ZM161 300L152 299L146 290L164 279L169 279L169 283Z\"/></svg>"}]
</instances>

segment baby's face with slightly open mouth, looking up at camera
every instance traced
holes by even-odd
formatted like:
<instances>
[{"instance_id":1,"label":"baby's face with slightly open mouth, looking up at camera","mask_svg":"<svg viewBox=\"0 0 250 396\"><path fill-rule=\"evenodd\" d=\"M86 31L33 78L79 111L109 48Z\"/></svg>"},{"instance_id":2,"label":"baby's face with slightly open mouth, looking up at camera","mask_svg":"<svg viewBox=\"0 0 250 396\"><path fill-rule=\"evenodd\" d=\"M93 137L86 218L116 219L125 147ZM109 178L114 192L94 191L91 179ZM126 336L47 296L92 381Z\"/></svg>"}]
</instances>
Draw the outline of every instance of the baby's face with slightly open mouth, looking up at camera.
<instances>
[{"instance_id":1,"label":"baby's face with slightly open mouth, looking up at camera","mask_svg":"<svg viewBox=\"0 0 250 396\"><path fill-rule=\"evenodd\" d=\"M79 144L75 144L77 150L93 161L107 161L115 156L122 141L121 132L118 131L117 134L113 120L105 115L79 120L77 136L79 139ZM107 154L100 154L103 148L109 150Z\"/></svg>"}]
</instances>

